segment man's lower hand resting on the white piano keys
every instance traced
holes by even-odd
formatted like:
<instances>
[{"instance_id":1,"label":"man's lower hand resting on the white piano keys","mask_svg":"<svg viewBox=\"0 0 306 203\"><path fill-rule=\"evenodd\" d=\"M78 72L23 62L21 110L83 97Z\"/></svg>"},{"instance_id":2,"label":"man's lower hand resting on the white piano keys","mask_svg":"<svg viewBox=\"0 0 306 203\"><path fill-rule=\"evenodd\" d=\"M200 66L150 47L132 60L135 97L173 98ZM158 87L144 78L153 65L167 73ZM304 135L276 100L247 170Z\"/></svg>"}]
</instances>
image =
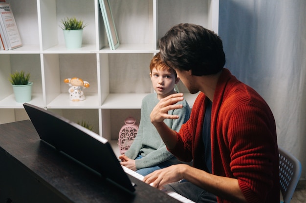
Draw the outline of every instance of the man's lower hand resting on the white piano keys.
<instances>
[{"instance_id":1,"label":"man's lower hand resting on the white piano keys","mask_svg":"<svg viewBox=\"0 0 306 203\"><path fill-rule=\"evenodd\" d=\"M155 170L146 175L143 181L158 189L163 189L163 185L182 180L183 171L188 167L186 164L172 165L166 168Z\"/></svg>"}]
</instances>

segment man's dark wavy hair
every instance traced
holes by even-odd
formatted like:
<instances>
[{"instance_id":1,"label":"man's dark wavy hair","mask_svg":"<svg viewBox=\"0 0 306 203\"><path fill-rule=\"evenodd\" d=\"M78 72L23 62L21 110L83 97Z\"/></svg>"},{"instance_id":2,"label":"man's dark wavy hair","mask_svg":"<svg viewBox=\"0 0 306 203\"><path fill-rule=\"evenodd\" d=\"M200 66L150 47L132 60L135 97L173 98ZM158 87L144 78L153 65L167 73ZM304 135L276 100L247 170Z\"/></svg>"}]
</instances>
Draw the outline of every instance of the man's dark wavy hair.
<instances>
[{"instance_id":1,"label":"man's dark wavy hair","mask_svg":"<svg viewBox=\"0 0 306 203\"><path fill-rule=\"evenodd\" d=\"M197 76L217 74L225 64L222 40L200 25L175 25L159 39L159 49L169 67Z\"/></svg>"}]
</instances>

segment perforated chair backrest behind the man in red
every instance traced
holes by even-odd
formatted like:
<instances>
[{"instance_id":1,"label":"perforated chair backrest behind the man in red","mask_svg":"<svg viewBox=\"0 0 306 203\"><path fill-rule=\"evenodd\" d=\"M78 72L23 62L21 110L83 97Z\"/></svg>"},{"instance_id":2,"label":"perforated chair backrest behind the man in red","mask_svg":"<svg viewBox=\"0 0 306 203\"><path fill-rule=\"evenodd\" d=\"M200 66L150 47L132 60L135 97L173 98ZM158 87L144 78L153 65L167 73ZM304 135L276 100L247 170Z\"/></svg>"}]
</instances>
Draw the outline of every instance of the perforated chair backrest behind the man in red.
<instances>
[{"instance_id":1,"label":"perforated chair backrest behind the man in red","mask_svg":"<svg viewBox=\"0 0 306 203\"><path fill-rule=\"evenodd\" d=\"M302 172L301 162L284 148L279 149L280 185L284 203L292 199Z\"/></svg>"}]
</instances>

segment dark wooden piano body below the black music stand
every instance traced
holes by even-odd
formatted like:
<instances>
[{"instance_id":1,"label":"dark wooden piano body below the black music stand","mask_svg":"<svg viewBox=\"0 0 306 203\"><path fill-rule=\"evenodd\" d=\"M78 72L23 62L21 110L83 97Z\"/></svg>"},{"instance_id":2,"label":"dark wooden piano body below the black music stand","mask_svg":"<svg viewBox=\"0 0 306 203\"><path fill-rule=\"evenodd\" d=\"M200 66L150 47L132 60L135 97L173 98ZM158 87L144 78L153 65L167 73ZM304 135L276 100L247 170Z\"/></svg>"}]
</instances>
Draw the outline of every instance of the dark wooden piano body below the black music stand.
<instances>
[{"instance_id":1,"label":"dark wooden piano body below the black music stand","mask_svg":"<svg viewBox=\"0 0 306 203\"><path fill-rule=\"evenodd\" d=\"M31 121L0 125L0 203L179 203L129 178L134 194L42 142Z\"/></svg>"}]
</instances>

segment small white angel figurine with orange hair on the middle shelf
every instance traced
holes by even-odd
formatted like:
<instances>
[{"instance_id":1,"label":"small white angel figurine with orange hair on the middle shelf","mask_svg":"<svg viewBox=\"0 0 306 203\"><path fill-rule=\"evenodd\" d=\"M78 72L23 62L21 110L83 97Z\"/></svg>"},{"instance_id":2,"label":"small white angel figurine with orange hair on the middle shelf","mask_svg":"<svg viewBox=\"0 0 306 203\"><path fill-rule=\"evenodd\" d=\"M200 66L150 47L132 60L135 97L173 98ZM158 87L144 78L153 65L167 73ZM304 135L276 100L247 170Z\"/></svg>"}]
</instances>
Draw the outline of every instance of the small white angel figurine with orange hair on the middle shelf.
<instances>
[{"instance_id":1,"label":"small white angel figurine with orange hair on the middle shelf","mask_svg":"<svg viewBox=\"0 0 306 203\"><path fill-rule=\"evenodd\" d=\"M83 88L85 89L89 87L87 81L84 81L79 77L72 77L64 79L64 82L68 83L70 86L68 92L71 101L83 101L86 99L83 93Z\"/></svg>"}]
</instances>

